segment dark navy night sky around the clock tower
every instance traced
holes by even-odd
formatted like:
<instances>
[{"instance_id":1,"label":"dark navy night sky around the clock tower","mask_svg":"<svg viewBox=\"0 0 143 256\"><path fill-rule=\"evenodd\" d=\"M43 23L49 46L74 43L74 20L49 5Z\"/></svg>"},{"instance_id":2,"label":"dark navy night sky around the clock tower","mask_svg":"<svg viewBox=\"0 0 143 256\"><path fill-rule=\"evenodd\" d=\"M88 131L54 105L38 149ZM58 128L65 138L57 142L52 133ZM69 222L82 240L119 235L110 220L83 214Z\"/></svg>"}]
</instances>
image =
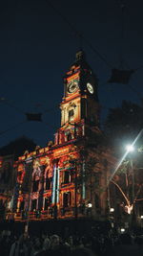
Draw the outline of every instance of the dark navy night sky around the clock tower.
<instances>
[{"instance_id":1,"label":"dark navy night sky around the clock tower","mask_svg":"<svg viewBox=\"0 0 143 256\"><path fill-rule=\"evenodd\" d=\"M122 100L140 103L143 4L124 3L122 14L119 0L1 1L0 147L22 135L46 146L60 127L63 76L80 47L72 26L84 36L82 47L99 81L102 122L109 107ZM107 83L112 68L121 68L121 58L124 69L139 69L129 84ZM26 122L25 112L43 112L43 122Z\"/></svg>"}]
</instances>

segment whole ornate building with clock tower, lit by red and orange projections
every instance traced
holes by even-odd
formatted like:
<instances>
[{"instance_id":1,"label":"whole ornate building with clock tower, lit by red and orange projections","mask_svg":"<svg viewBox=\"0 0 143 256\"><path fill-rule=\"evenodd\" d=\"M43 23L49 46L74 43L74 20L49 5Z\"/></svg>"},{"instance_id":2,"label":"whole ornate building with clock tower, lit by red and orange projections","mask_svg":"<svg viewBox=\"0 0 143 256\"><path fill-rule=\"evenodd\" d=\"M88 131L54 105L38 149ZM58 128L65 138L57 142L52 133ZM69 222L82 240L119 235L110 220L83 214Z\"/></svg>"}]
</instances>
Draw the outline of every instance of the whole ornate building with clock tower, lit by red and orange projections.
<instances>
[{"instance_id":1,"label":"whole ornate building with clock tower, lit by red and orange projections","mask_svg":"<svg viewBox=\"0 0 143 256\"><path fill-rule=\"evenodd\" d=\"M14 163L8 219L12 213L16 221L107 216L114 159L99 128L97 80L81 51L64 77L60 109L54 142L26 151Z\"/></svg>"}]
</instances>

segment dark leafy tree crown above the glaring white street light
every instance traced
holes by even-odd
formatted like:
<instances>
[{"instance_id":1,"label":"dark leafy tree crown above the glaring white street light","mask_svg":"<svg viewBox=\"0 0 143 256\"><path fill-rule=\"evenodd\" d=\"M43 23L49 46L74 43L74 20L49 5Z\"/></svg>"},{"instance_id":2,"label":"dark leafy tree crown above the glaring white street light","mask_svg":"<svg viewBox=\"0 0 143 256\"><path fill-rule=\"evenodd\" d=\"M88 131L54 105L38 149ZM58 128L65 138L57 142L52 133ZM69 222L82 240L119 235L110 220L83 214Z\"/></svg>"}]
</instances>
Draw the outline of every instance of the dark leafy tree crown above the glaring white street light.
<instances>
[{"instance_id":1,"label":"dark leafy tree crown above the glaring white street light","mask_svg":"<svg viewBox=\"0 0 143 256\"><path fill-rule=\"evenodd\" d=\"M105 122L105 133L117 154L121 144L132 141L143 128L143 105L123 101L120 107L110 109Z\"/></svg>"}]
</instances>

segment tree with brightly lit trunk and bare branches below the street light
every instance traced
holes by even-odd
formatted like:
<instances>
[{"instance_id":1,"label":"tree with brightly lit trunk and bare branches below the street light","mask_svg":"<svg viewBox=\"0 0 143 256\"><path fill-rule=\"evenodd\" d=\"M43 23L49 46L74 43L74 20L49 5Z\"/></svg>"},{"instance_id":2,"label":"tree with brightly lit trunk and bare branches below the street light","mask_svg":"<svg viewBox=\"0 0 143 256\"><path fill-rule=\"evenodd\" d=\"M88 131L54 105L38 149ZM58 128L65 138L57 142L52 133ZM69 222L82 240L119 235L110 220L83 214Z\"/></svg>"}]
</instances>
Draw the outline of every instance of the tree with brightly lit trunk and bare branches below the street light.
<instances>
[{"instance_id":1,"label":"tree with brightly lit trunk and bare branches below the street light","mask_svg":"<svg viewBox=\"0 0 143 256\"><path fill-rule=\"evenodd\" d=\"M118 202L120 211L122 208L124 216L131 217L130 221L133 221L133 215L137 216L137 211L139 211L136 207L137 202L143 200L143 176L140 175L139 171L137 161L132 162L131 159L126 159L113 176L110 185L112 204ZM113 191L115 195L113 195ZM115 200L113 198L115 198ZM136 221L135 219L136 217L134 221Z\"/></svg>"}]
</instances>

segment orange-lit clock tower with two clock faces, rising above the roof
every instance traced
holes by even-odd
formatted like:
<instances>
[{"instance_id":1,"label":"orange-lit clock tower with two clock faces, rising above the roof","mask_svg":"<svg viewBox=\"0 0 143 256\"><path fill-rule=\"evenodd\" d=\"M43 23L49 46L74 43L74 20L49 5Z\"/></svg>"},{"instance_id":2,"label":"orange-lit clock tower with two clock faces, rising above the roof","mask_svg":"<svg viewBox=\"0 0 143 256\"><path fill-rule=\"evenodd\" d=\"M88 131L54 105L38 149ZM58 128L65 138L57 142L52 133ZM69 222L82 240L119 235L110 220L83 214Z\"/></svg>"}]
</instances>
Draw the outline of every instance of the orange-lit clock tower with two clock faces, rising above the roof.
<instances>
[{"instance_id":1,"label":"orange-lit clock tower with two clock faces, rising above the roof","mask_svg":"<svg viewBox=\"0 0 143 256\"><path fill-rule=\"evenodd\" d=\"M97 79L79 51L64 77L64 98L61 103L61 128L84 123L99 127Z\"/></svg>"}]
</instances>

